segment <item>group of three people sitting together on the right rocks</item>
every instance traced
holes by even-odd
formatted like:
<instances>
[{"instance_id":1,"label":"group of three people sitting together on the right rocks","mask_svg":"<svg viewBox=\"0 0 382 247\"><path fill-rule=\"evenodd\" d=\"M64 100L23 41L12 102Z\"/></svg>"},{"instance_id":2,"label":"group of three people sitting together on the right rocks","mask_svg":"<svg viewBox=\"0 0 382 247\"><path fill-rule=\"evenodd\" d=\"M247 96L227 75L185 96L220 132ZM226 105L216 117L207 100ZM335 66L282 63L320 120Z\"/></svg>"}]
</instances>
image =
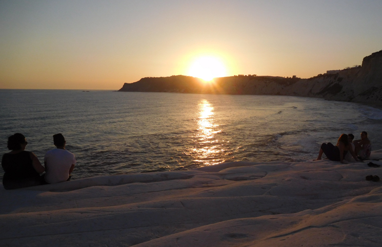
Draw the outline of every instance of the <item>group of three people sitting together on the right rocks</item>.
<instances>
[{"instance_id":1,"label":"group of three people sitting together on the right rocks","mask_svg":"<svg viewBox=\"0 0 382 247\"><path fill-rule=\"evenodd\" d=\"M371 143L368 139L368 133L366 131L362 131L361 139L355 141L353 141L353 139L353 134L341 134L338 138L336 146L330 142L323 143L319 149L317 160L321 160L323 153L325 153L329 160L339 161L341 163L364 161L369 159L371 153Z\"/></svg>"}]
</instances>

